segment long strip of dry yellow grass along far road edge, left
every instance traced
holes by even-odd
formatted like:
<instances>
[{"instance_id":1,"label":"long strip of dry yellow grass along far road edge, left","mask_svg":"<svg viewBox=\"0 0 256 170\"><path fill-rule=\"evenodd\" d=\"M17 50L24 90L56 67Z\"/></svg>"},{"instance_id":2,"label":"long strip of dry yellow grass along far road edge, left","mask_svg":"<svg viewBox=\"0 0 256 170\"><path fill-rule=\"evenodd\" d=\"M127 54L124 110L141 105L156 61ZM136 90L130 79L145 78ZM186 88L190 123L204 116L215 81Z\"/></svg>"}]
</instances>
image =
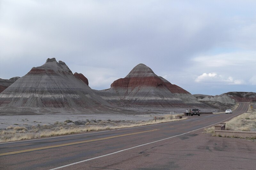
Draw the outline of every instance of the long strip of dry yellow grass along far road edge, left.
<instances>
[{"instance_id":1,"label":"long strip of dry yellow grass along far road edge, left","mask_svg":"<svg viewBox=\"0 0 256 170\"><path fill-rule=\"evenodd\" d=\"M71 120L65 122L55 122L54 125L42 125L42 126L30 126L29 128L20 126L8 126L6 130L0 131L0 142L17 141L23 139L33 139L40 137L59 136L74 133L82 133L87 131L102 131L110 129L130 128L137 126L145 126L150 124L159 124L166 122L173 122L179 120L185 120L187 118L177 119L171 115L165 115L163 117L157 117L149 121L102 121L102 120L86 120L81 121L79 125ZM67 124L72 123L72 124Z\"/></svg>"}]
</instances>

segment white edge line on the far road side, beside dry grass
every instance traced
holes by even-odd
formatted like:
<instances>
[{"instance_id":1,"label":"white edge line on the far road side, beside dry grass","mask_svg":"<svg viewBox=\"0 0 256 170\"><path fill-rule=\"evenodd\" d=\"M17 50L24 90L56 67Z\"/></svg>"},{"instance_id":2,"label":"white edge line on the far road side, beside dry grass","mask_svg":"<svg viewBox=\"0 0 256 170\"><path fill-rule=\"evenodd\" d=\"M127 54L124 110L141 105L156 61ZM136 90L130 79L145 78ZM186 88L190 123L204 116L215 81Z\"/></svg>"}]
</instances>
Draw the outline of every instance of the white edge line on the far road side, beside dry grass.
<instances>
[{"instance_id":1,"label":"white edge line on the far road side, beside dry grass","mask_svg":"<svg viewBox=\"0 0 256 170\"><path fill-rule=\"evenodd\" d=\"M191 119L194 119L194 118L191 118ZM180 121L186 121L186 120L190 120L190 119L185 119L185 120L180 120ZM179 122L179 121L173 121L173 122ZM117 130L133 129L133 128L140 128L140 127L146 127L146 126L155 126L155 125L159 125L159 124L168 124L168 123L173 123L173 122L150 124L150 125L145 125L145 126L137 126L137 127L131 127L131 128L123 128L123 129L114 129L114 130L108 130L108 131L117 131ZM98 131L98 132L92 132L92 133L101 133L101 132L106 132L106 131ZM82 133L82 134L76 134L76 135L57 136L57 137L51 137L51 138L41 138L41 139L31 139L31 140L22 140L22 141L14 141L14 142L5 142L5 143L0 143L0 145L1 144L16 143L16 142L28 142L28 141L33 141L33 140L43 140L43 139L52 139L52 138L62 138L62 137L68 137L68 136L87 135L87 134L92 134L92 133Z\"/></svg>"}]
</instances>

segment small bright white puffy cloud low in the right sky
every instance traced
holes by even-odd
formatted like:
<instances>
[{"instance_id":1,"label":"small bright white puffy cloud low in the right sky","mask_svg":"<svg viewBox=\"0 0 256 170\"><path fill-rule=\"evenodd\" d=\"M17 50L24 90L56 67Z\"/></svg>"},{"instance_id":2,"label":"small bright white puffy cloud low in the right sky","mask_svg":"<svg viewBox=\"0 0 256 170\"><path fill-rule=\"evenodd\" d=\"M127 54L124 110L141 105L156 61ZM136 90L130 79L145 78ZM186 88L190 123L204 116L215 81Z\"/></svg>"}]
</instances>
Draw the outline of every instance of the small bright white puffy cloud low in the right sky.
<instances>
[{"instance_id":1,"label":"small bright white puffy cloud low in the right sky","mask_svg":"<svg viewBox=\"0 0 256 170\"><path fill-rule=\"evenodd\" d=\"M233 77L224 77L217 73L203 73L199 75L195 82L214 83L214 84L244 84L244 80L234 80Z\"/></svg>"}]
</instances>

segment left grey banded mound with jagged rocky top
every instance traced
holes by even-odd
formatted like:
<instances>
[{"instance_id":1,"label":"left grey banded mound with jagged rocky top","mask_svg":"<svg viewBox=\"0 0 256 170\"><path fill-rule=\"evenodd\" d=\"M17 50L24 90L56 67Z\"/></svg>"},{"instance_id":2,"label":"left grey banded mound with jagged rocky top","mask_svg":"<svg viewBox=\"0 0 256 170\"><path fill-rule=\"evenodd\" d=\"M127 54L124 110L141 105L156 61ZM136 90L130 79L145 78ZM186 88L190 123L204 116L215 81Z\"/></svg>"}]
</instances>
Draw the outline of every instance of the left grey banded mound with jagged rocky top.
<instances>
[{"instance_id":1,"label":"left grey banded mound with jagged rocky top","mask_svg":"<svg viewBox=\"0 0 256 170\"><path fill-rule=\"evenodd\" d=\"M0 107L99 108L110 106L88 86L83 74L73 74L68 66L47 59L40 67L15 81L0 94Z\"/></svg>"}]
</instances>

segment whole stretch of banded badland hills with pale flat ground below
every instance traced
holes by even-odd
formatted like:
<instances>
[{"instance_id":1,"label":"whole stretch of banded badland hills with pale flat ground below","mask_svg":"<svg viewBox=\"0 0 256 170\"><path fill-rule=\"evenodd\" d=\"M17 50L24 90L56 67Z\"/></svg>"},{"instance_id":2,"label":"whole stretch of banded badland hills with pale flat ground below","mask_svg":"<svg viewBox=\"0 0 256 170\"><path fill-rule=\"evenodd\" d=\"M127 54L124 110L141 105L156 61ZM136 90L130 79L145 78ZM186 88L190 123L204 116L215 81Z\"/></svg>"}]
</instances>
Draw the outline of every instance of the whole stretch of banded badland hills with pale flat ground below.
<instances>
[{"instance_id":1,"label":"whole stretch of banded badland hills with pale flat ground below","mask_svg":"<svg viewBox=\"0 0 256 170\"><path fill-rule=\"evenodd\" d=\"M93 90L83 74L73 74L55 58L48 58L22 77L0 79L0 89L0 129L23 127L25 132L81 124L134 124L192 108L217 113L237 102L256 101L253 92L192 95L144 64L114 81L110 89Z\"/></svg>"}]
</instances>

